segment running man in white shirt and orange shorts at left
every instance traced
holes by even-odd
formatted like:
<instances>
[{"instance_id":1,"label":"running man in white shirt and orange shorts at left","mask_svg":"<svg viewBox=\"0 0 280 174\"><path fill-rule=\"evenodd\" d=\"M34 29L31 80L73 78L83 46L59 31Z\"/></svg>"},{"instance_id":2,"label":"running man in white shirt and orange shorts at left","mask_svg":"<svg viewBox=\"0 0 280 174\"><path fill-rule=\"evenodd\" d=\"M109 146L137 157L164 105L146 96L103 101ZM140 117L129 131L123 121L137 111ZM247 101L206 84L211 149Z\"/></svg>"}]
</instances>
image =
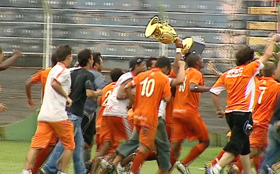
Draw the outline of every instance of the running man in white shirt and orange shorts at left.
<instances>
[{"instance_id":1,"label":"running man in white shirt and orange shorts at left","mask_svg":"<svg viewBox=\"0 0 280 174\"><path fill-rule=\"evenodd\" d=\"M57 64L51 69L45 87L43 103L38 114L38 125L34 134L31 147L26 157L23 174L30 174L30 168L34 158L40 149L44 149L50 140L57 134L65 151L61 160L61 174L73 155L75 149L73 123L69 120L66 112L67 107L72 105L69 97L71 78L70 70L67 69L72 62L72 49L68 45L57 48Z\"/></svg>"}]
</instances>

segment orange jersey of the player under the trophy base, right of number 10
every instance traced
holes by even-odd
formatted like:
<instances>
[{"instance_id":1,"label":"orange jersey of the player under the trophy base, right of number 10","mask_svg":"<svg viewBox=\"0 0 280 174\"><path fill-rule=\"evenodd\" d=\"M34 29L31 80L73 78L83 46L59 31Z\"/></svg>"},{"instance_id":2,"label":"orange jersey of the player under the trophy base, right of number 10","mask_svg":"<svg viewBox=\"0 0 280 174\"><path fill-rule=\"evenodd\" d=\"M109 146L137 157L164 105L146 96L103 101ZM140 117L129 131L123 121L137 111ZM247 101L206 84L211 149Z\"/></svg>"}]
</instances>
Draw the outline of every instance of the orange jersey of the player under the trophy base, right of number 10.
<instances>
[{"instance_id":1,"label":"orange jersey of the player under the trophy base, right of number 10","mask_svg":"<svg viewBox=\"0 0 280 174\"><path fill-rule=\"evenodd\" d=\"M204 86L202 73L199 71L199 69L194 67L189 67L186 69L184 83L177 86L173 107L173 116L175 116L176 113L184 112L199 114L198 105L201 93L191 92L191 83Z\"/></svg>"}]
</instances>

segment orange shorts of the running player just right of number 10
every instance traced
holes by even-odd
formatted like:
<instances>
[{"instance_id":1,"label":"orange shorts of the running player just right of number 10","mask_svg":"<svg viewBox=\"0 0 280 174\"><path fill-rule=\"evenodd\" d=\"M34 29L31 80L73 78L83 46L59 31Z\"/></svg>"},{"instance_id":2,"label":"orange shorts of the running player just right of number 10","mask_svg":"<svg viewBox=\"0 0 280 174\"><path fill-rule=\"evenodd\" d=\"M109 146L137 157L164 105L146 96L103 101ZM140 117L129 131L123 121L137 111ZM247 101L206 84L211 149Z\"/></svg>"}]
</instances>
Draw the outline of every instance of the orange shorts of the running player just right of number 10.
<instances>
[{"instance_id":1,"label":"orange shorts of the running player just right of number 10","mask_svg":"<svg viewBox=\"0 0 280 174\"><path fill-rule=\"evenodd\" d=\"M170 142L182 142L186 138L188 138L189 142L209 140L207 127L200 115L185 114L180 115L180 117L174 116L172 121Z\"/></svg>"}]
</instances>

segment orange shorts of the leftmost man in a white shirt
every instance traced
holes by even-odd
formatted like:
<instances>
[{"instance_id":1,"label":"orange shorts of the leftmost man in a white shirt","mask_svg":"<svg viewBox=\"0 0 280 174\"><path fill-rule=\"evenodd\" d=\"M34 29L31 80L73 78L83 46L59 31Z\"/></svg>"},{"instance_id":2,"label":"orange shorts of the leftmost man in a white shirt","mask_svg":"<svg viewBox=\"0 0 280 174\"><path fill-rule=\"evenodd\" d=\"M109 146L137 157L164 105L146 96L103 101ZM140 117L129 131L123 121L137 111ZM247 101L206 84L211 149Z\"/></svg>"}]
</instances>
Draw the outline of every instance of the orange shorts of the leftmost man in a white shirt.
<instances>
[{"instance_id":1,"label":"orange shorts of the leftmost man in a white shirt","mask_svg":"<svg viewBox=\"0 0 280 174\"><path fill-rule=\"evenodd\" d=\"M31 140L31 148L44 149L56 136L65 149L75 149L74 126L69 119L59 122L39 121L36 133Z\"/></svg>"}]
</instances>

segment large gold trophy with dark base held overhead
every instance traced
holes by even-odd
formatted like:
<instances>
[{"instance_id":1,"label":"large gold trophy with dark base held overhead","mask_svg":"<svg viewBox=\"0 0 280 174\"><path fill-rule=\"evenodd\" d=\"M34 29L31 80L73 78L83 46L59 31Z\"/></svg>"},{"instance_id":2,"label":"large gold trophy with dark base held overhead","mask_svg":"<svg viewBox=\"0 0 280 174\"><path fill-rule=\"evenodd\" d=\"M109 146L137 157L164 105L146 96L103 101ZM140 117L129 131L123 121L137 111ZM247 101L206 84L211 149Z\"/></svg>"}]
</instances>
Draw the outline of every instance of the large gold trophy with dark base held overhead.
<instances>
[{"instance_id":1,"label":"large gold trophy with dark base held overhead","mask_svg":"<svg viewBox=\"0 0 280 174\"><path fill-rule=\"evenodd\" d=\"M173 44L178 38L176 31L167 21L159 20L157 16L153 17L145 29L145 36L157 39L163 44ZM205 44L198 37L190 37L182 40L183 55L191 52L192 54L201 54Z\"/></svg>"}]
</instances>

